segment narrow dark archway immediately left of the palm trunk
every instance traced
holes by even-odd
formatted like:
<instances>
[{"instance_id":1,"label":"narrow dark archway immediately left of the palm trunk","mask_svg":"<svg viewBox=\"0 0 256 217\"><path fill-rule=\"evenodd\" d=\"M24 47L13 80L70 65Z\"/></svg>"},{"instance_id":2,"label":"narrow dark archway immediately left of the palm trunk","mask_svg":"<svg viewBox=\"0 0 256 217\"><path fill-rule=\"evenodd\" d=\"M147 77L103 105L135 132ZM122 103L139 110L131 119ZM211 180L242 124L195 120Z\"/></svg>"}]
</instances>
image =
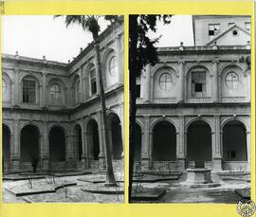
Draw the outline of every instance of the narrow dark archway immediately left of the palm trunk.
<instances>
[{"instance_id":1,"label":"narrow dark archway immediately left of the palm trunk","mask_svg":"<svg viewBox=\"0 0 256 217\"><path fill-rule=\"evenodd\" d=\"M90 155L93 160L99 160L100 141L99 130L96 120L91 119L87 126L88 145L90 147Z\"/></svg>"}]
</instances>

